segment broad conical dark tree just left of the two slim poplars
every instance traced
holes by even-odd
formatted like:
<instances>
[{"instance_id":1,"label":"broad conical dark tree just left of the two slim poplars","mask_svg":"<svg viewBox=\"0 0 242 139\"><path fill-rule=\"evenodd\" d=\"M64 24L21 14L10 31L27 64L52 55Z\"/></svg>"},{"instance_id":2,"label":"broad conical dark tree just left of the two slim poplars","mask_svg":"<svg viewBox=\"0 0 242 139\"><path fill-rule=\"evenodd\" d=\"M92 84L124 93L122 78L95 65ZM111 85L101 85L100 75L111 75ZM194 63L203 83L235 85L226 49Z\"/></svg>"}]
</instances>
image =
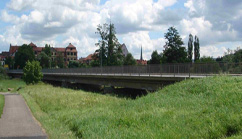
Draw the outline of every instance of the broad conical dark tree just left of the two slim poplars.
<instances>
[{"instance_id":1,"label":"broad conical dark tree just left of the two slim poplars","mask_svg":"<svg viewBox=\"0 0 242 139\"><path fill-rule=\"evenodd\" d=\"M167 39L165 50L163 51L164 62L166 63L184 63L187 62L187 51L182 38L178 31L174 27L170 27L168 32L165 33L165 39Z\"/></svg>"}]
</instances>

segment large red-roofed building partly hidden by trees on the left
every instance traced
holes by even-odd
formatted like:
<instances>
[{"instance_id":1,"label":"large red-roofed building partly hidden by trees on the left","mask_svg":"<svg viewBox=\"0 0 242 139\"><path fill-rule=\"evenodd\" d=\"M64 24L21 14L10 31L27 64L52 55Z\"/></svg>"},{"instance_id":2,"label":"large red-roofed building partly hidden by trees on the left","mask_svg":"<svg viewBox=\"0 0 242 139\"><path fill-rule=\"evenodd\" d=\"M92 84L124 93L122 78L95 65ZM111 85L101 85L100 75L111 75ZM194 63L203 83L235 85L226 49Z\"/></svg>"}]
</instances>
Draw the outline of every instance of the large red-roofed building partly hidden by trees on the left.
<instances>
[{"instance_id":1,"label":"large red-roofed building partly hidden by trees on the left","mask_svg":"<svg viewBox=\"0 0 242 139\"><path fill-rule=\"evenodd\" d=\"M35 45L32 42L29 44L29 46L31 46L33 48L34 55L36 58L45 48L45 47L38 47L37 45ZM18 49L20 47L21 46L17 46L17 45L14 46L14 45L10 44L9 52L6 52L8 54L5 57L10 56L10 57L14 58L16 52L18 52ZM63 56L66 65L69 64L69 61L77 60L76 47L74 45L72 45L71 43L69 43L69 45L66 48L51 47L51 54L52 54L51 55L52 61L54 61L57 56ZM1 56L1 59L2 59L2 56Z\"/></svg>"}]
</instances>

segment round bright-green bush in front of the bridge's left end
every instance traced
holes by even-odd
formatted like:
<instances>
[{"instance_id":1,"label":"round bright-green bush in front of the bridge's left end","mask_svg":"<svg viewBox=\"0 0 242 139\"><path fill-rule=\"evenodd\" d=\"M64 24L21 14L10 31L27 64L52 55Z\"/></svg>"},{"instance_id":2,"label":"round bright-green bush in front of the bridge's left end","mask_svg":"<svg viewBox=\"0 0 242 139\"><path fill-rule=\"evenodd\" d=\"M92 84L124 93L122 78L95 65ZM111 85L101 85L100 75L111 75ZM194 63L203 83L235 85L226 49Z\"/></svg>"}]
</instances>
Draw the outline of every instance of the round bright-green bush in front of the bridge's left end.
<instances>
[{"instance_id":1,"label":"round bright-green bush in front of the bridge's left end","mask_svg":"<svg viewBox=\"0 0 242 139\"><path fill-rule=\"evenodd\" d=\"M26 84L36 84L43 78L42 68L38 61L28 61L23 69L23 80Z\"/></svg>"}]
</instances>

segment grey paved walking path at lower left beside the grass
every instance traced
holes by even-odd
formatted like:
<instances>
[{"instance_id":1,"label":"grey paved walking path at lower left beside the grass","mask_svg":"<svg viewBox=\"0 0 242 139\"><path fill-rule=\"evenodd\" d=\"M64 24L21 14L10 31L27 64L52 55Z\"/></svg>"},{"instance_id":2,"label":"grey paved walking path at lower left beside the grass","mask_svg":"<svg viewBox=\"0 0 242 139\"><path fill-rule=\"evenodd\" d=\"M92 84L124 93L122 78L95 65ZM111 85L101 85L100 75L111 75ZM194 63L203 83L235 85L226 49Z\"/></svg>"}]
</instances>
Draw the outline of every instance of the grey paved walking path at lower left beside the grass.
<instances>
[{"instance_id":1,"label":"grey paved walking path at lower left beside the grass","mask_svg":"<svg viewBox=\"0 0 242 139\"><path fill-rule=\"evenodd\" d=\"M2 94L5 96L5 105L0 119L0 139L46 139L46 134L32 116L23 97L13 93Z\"/></svg>"}]
</instances>

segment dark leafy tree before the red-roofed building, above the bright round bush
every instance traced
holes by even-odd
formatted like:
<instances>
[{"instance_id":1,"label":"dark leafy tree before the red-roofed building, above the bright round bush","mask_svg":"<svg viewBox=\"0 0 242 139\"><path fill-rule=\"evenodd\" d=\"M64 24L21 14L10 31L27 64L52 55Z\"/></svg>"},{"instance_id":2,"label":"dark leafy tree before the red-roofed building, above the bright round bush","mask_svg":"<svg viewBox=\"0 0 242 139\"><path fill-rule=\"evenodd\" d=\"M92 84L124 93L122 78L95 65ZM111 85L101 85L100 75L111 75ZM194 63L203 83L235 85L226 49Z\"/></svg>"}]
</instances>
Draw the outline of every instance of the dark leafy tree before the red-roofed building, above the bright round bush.
<instances>
[{"instance_id":1,"label":"dark leafy tree before the red-roofed building, above the bright round bush","mask_svg":"<svg viewBox=\"0 0 242 139\"><path fill-rule=\"evenodd\" d=\"M18 52L16 52L15 54L15 68L22 69L26 64L26 61L33 60L35 60L35 56L32 47L24 44L18 49Z\"/></svg>"}]
</instances>

